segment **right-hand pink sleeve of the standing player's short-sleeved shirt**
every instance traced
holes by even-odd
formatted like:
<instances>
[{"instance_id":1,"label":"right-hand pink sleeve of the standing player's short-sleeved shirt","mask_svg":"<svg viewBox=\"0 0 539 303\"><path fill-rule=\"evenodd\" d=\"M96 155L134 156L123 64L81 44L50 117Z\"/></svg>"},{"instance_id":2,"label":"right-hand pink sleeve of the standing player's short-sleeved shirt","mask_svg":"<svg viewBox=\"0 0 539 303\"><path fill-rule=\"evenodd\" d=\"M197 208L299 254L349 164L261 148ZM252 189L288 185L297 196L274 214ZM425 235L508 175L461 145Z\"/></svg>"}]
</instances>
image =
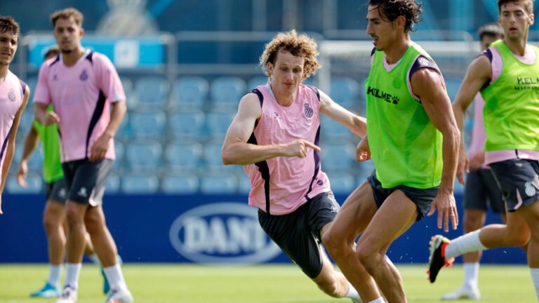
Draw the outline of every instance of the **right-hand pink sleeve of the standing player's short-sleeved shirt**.
<instances>
[{"instance_id":1,"label":"right-hand pink sleeve of the standing player's short-sleeved shirt","mask_svg":"<svg viewBox=\"0 0 539 303\"><path fill-rule=\"evenodd\" d=\"M124 86L121 85L120 76L109 58L99 55L96 63L96 76L100 90L110 102L125 101Z\"/></svg>"}]
</instances>

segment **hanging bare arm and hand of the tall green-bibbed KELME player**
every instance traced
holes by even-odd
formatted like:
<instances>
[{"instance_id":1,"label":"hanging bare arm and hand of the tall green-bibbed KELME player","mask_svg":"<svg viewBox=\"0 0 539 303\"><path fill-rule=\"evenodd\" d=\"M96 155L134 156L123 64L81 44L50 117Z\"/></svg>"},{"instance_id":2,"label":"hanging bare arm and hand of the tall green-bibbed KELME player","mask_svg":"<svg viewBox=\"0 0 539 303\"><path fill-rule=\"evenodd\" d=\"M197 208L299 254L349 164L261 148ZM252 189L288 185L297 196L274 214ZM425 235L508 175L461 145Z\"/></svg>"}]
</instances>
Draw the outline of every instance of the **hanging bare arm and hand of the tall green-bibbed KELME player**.
<instances>
[{"instance_id":1,"label":"hanging bare arm and hand of the tall green-bibbed KELME player","mask_svg":"<svg viewBox=\"0 0 539 303\"><path fill-rule=\"evenodd\" d=\"M444 165L441 171L441 184L437 197L434 198L428 215L438 210L438 228L444 226L444 231L451 227L457 228L458 213L453 196L453 184L457 170L458 147L460 133L455 116L451 109L451 100L444 89L444 82L440 74L434 69L422 68L413 74L412 89L420 97L425 112L434 126L444 136L442 145L442 158Z\"/></svg>"}]
</instances>

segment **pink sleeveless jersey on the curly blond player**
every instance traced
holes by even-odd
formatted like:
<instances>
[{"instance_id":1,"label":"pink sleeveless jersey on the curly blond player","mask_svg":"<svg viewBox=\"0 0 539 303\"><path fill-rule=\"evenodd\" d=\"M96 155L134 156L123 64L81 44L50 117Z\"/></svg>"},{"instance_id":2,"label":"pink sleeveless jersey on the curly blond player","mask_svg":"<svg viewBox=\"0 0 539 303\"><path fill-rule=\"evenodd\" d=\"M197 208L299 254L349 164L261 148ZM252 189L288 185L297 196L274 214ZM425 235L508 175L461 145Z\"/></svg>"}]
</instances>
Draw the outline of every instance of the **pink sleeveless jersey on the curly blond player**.
<instances>
[{"instance_id":1,"label":"pink sleeveless jersey on the curly blond player","mask_svg":"<svg viewBox=\"0 0 539 303\"><path fill-rule=\"evenodd\" d=\"M285 144L304 139L319 144L317 88L301 84L289 107L277 103L269 85L258 86L253 93L260 100L262 116L248 143ZM308 150L305 158L280 156L244 166L251 179L249 205L272 215L284 215L317 194L330 191L328 177L321 171L319 152Z\"/></svg>"}]
</instances>

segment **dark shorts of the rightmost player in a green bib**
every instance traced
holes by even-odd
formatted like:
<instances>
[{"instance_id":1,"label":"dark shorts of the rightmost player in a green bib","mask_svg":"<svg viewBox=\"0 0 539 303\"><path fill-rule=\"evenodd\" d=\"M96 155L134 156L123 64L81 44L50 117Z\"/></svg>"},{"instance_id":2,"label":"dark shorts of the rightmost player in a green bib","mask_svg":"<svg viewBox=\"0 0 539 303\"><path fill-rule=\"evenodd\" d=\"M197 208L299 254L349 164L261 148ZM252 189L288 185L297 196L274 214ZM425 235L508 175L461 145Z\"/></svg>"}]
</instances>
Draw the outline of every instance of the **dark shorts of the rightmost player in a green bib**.
<instances>
[{"instance_id":1,"label":"dark shorts of the rightmost player in a green bib","mask_svg":"<svg viewBox=\"0 0 539 303\"><path fill-rule=\"evenodd\" d=\"M507 211L513 212L523 204L528 206L539 199L539 162L510 159L491 163L491 170L500 185Z\"/></svg>"}]
</instances>

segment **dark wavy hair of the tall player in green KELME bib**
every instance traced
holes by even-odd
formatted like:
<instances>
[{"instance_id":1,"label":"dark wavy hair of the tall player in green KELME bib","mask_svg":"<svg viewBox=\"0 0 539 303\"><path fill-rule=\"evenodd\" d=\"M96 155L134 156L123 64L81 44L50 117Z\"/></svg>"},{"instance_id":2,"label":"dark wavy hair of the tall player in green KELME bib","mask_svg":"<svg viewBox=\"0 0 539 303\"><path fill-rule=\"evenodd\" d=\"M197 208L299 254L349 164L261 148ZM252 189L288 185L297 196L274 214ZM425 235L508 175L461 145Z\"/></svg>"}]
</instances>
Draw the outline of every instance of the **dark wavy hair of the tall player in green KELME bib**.
<instances>
[{"instance_id":1,"label":"dark wavy hair of the tall player in green KELME bib","mask_svg":"<svg viewBox=\"0 0 539 303\"><path fill-rule=\"evenodd\" d=\"M378 9L384 21L393 22L403 16L406 19L404 32L413 31L413 25L421 21L421 5L415 0L369 0L368 5Z\"/></svg>"}]
</instances>

